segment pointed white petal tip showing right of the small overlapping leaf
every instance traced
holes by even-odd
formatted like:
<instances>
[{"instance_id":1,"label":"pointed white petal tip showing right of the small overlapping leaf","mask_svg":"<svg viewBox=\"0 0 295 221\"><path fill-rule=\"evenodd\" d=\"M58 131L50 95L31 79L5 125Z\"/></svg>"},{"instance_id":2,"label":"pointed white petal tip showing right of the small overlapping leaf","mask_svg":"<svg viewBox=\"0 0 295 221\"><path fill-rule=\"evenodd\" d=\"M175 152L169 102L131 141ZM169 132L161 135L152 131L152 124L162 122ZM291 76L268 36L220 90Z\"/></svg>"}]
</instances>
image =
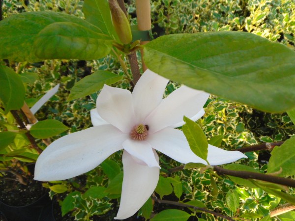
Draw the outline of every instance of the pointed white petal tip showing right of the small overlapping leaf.
<instances>
[{"instance_id":1,"label":"pointed white petal tip showing right of the small overlapping leaf","mask_svg":"<svg viewBox=\"0 0 295 221\"><path fill-rule=\"evenodd\" d=\"M223 150L209 144L207 161L210 165L228 164L247 156L239 151Z\"/></svg>"}]
</instances>

